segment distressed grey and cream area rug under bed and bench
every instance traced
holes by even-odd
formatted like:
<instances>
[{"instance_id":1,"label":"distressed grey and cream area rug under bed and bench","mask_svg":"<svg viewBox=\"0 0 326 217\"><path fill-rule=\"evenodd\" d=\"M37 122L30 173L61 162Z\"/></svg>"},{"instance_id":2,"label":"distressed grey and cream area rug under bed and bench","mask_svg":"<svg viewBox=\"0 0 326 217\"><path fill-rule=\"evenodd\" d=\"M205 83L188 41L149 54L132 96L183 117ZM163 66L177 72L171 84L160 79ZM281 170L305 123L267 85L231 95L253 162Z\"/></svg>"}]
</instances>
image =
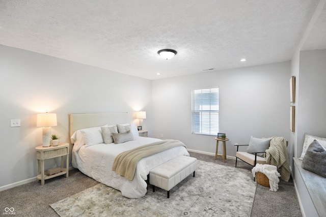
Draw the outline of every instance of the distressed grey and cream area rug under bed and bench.
<instances>
[{"instance_id":1,"label":"distressed grey and cream area rug under bed and bench","mask_svg":"<svg viewBox=\"0 0 326 217\"><path fill-rule=\"evenodd\" d=\"M198 161L170 191L149 187L144 197L129 199L97 184L50 206L64 216L250 216L256 182L249 170Z\"/></svg>"}]
</instances>

